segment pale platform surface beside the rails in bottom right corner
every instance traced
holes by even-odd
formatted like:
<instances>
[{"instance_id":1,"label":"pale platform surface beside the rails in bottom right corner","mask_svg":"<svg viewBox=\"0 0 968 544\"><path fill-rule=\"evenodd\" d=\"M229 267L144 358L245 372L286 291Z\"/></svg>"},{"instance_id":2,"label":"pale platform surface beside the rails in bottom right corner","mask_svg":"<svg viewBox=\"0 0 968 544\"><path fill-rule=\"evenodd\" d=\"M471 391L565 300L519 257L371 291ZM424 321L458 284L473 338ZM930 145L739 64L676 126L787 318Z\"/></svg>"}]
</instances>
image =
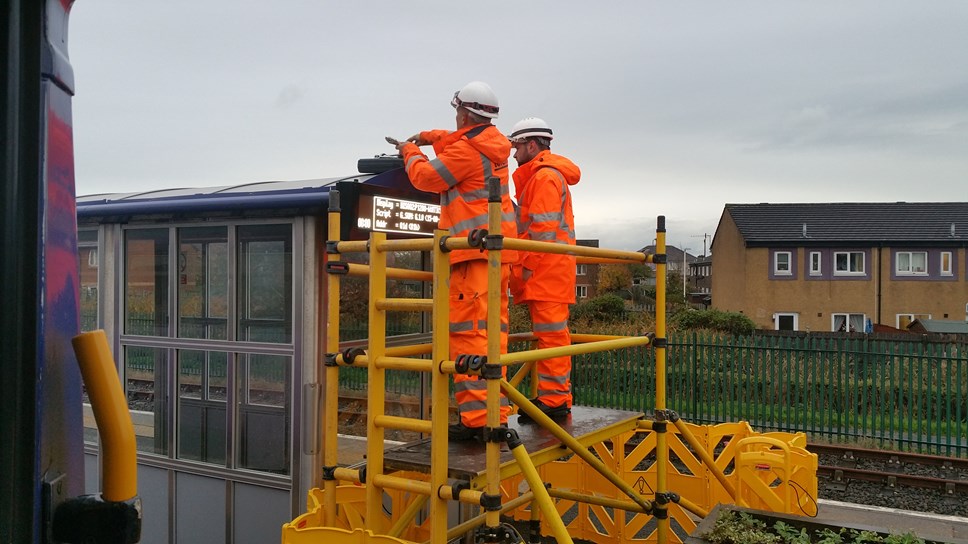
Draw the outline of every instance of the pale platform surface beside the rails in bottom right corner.
<instances>
[{"instance_id":1,"label":"pale platform surface beside the rails in bottom right corner","mask_svg":"<svg viewBox=\"0 0 968 544\"><path fill-rule=\"evenodd\" d=\"M884 528L898 534L914 533L925 540L968 544L968 518L913 512L821 499L815 522L837 522L847 527Z\"/></svg>"}]
</instances>

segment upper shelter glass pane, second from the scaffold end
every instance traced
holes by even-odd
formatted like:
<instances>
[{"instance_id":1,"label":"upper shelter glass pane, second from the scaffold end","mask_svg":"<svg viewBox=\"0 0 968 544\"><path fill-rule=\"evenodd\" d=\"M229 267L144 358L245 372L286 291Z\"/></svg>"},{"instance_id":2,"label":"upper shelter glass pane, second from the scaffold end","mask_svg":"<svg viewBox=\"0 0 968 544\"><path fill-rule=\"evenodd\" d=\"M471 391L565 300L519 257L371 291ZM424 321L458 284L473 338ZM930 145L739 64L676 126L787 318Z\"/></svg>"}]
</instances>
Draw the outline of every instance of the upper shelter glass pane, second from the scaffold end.
<instances>
[{"instance_id":1,"label":"upper shelter glass pane, second from the scaffold end","mask_svg":"<svg viewBox=\"0 0 968 544\"><path fill-rule=\"evenodd\" d=\"M227 338L228 229L178 229L178 336Z\"/></svg>"}]
</instances>

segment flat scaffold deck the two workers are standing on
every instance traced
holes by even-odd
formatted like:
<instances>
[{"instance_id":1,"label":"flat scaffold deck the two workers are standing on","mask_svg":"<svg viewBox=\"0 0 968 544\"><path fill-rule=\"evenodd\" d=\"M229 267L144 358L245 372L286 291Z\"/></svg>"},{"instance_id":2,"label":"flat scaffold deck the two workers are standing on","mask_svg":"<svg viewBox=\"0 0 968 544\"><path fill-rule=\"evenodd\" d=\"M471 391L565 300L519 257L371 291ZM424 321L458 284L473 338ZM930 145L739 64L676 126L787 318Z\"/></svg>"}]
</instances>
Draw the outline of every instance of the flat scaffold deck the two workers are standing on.
<instances>
[{"instance_id":1,"label":"flat scaffold deck the two workers are standing on","mask_svg":"<svg viewBox=\"0 0 968 544\"><path fill-rule=\"evenodd\" d=\"M615 435L636 428L641 412L573 406L571 414L560 425L583 446L590 447ZM518 423L518 416L508 418L508 427L517 431L535 466L569 455L570 452L552 432L536 423ZM447 448L448 476L457 480L481 481L485 474L485 444L476 440L450 442ZM429 472L430 439L408 442L389 448L384 453L385 470ZM501 479L520 473L507 446L501 449Z\"/></svg>"}]
</instances>

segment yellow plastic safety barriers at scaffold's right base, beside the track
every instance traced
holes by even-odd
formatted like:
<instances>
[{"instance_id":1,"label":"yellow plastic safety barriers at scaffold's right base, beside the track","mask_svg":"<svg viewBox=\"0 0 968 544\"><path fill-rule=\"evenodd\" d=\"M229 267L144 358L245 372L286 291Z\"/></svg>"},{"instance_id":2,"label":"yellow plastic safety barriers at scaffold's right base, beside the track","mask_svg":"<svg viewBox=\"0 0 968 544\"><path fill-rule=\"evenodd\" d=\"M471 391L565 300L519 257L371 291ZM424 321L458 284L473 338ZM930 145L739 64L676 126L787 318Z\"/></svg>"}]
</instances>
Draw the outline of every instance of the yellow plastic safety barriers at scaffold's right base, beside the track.
<instances>
[{"instance_id":1,"label":"yellow plastic safety barriers at scaffold's right base, beside the track","mask_svg":"<svg viewBox=\"0 0 968 544\"><path fill-rule=\"evenodd\" d=\"M698 521L718 503L816 515L817 457L806 450L802 433L761 435L747 422L685 425L710 455L714 467L725 472L726 483L739 497L730 495L681 433L666 433L670 452L666 482L680 497L678 504L667 504L671 525L669 542L682 542L682 537L692 532ZM656 500L658 485L657 434L633 431L592 447L596 457L650 501ZM566 516L569 520L566 526L573 537L600 543L658 541L655 518L637 510L637 505L578 456L547 463L538 471L542 481L551 486L552 496L570 497L570 500L559 500L556 508L562 514L571 513ZM527 490L520 476L502 484L506 499ZM612 507L594 504L622 499L626 499L624 508L614 503L609 503ZM532 517L525 507L512 515L521 521Z\"/></svg>"}]
</instances>

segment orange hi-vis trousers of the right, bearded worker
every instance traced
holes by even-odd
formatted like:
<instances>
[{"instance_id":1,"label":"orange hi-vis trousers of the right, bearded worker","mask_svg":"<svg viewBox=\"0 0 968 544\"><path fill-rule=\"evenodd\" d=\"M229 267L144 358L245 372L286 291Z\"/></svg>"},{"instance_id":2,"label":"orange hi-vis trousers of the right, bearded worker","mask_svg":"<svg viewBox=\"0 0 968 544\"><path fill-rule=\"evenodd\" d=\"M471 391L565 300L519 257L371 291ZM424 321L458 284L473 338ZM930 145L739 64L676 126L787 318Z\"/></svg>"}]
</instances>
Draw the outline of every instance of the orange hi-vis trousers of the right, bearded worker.
<instances>
[{"instance_id":1,"label":"orange hi-vis trousers of the right, bearded worker","mask_svg":"<svg viewBox=\"0 0 968 544\"><path fill-rule=\"evenodd\" d=\"M527 302L531 312L532 332L538 338L538 349L571 345L568 330L568 304L563 302ZM541 359L538 366L538 400L545 406L571 408L571 356Z\"/></svg>"}]
</instances>

